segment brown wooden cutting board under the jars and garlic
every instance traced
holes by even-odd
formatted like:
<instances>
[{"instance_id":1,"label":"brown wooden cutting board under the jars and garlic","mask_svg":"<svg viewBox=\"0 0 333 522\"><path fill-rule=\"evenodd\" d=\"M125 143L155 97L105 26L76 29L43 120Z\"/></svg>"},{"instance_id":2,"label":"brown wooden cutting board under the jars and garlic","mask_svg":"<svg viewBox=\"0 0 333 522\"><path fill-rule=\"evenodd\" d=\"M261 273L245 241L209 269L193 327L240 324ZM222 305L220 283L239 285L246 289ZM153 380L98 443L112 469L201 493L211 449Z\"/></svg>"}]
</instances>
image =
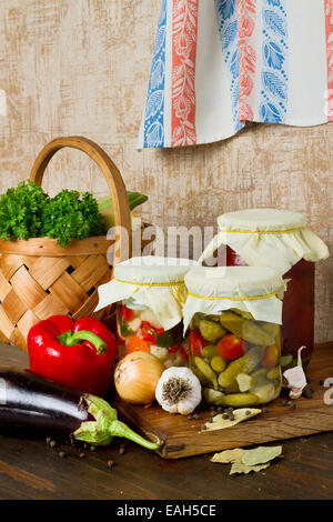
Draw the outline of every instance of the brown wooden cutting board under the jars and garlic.
<instances>
[{"instance_id":1,"label":"brown wooden cutting board under the jars and garlic","mask_svg":"<svg viewBox=\"0 0 333 522\"><path fill-rule=\"evenodd\" d=\"M333 404L324 402L325 392L333 402L333 388L327 391L320 384L326 378L332 378L333 382L333 342L315 348L306 374L314 389L313 398L297 399L294 401L294 410L283 406L282 398L279 398L269 404L268 413L211 432L201 431L201 425L210 418L208 410L198 410L200 420L189 420L186 416L169 414L155 404L149 408L133 406L117 398L114 402L122 420L148 439L163 444L158 451L163 459L180 459L333 430Z\"/></svg>"}]
</instances>

